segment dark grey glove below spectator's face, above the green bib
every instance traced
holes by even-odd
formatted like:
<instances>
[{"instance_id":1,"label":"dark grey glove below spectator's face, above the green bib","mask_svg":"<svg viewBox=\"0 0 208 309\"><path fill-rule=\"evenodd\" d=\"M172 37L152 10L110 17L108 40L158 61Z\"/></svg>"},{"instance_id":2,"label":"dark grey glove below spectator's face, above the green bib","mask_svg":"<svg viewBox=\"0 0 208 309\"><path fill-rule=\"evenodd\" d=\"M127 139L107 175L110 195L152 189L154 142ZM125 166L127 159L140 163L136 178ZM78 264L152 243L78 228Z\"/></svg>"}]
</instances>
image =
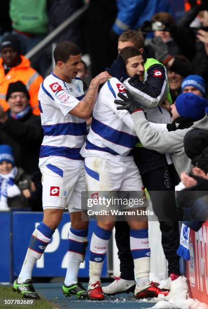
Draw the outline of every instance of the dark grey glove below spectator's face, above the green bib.
<instances>
[{"instance_id":1,"label":"dark grey glove below spectator's face, above the green bib","mask_svg":"<svg viewBox=\"0 0 208 309\"><path fill-rule=\"evenodd\" d=\"M154 49L155 58L166 64L172 56L169 54L168 46L164 43L160 36L155 36L149 45Z\"/></svg>"}]
</instances>

